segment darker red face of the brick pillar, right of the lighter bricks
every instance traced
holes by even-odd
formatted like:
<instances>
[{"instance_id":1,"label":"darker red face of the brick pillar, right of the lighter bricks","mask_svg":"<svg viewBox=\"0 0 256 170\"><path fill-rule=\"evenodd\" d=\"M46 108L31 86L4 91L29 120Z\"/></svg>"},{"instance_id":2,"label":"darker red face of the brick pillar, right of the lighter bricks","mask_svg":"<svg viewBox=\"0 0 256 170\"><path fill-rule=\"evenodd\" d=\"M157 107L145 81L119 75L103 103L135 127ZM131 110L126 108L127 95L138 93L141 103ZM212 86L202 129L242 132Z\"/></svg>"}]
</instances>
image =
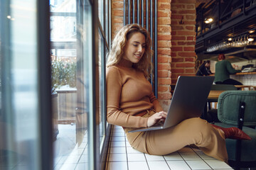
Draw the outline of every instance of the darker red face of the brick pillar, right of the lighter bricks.
<instances>
[{"instance_id":1,"label":"darker red face of the brick pillar, right of the lighter bricks","mask_svg":"<svg viewBox=\"0 0 256 170\"><path fill-rule=\"evenodd\" d=\"M196 0L171 1L171 84L195 75ZM172 89L173 90L173 89Z\"/></svg>"}]
</instances>

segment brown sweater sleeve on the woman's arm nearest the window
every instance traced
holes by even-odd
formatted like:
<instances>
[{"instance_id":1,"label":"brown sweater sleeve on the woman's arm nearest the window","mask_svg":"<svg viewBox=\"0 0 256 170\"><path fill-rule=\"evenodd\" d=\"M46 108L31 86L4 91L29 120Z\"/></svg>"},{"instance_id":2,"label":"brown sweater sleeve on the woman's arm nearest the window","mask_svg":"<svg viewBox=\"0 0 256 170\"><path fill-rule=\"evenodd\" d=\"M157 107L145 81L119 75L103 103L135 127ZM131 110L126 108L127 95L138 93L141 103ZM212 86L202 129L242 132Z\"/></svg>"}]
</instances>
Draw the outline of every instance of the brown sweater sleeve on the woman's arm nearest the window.
<instances>
[{"instance_id":1,"label":"brown sweater sleeve on the woman's arm nearest the window","mask_svg":"<svg viewBox=\"0 0 256 170\"><path fill-rule=\"evenodd\" d=\"M107 122L127 128L144 128L148 118L128 115L119 110L119 101L122 92L122 77L116 67L107 69Z\"/></svg>"}]
</instances>

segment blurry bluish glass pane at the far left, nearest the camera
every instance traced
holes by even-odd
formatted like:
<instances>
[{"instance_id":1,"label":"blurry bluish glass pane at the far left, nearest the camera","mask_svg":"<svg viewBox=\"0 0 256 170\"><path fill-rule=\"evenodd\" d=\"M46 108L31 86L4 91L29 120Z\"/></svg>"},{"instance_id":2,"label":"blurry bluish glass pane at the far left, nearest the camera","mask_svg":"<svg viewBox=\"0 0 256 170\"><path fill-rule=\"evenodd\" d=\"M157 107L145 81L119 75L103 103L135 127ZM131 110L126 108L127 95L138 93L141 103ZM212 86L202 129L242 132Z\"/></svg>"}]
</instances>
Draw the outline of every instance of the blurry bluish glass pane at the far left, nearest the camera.
<instances>
[{"instance_id":1,"label":"blurry bluish glass pane at the far left, nearest the camera","mask_svg":"<svg viewBox=\"0 0 256 170\"><path fill-rule=\"evenodd\" d=\"M0 169L39 169L36 1L1 1Z\"/></svg>"}]
</instances>

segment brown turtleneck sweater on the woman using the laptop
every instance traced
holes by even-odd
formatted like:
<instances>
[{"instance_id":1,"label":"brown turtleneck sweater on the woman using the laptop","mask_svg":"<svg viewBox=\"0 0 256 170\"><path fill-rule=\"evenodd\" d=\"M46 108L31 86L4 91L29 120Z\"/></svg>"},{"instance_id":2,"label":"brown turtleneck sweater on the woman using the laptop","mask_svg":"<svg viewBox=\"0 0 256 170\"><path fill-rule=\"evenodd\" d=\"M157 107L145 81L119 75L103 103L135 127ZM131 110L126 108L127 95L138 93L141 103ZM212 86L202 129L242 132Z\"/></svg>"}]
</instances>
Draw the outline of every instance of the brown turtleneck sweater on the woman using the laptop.
<instances>
[{"instance_id":1,"label":"brown turtleneck sweater on the woman using the laptop","mask_svg":"<svg viewBox=\"0 0 256 170\"><path fill-rule=\"evenodd\" d=\"M163 111L143 72L123 60L118 66L107 68L107 121L126 128L146 127L148 118L135 116L154 108Z\"/></svg>"}]
</instances>

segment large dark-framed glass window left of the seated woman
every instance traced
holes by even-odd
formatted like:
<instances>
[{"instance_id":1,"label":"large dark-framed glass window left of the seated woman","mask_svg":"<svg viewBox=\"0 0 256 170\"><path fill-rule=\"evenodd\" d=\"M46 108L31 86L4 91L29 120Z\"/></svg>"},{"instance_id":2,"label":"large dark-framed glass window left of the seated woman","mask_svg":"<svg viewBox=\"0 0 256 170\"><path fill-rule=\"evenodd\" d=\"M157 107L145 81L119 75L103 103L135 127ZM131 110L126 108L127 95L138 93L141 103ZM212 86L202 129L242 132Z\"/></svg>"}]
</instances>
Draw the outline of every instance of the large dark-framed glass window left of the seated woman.
<instances>
[{"instance_id":1,"label":"large dark-framed glass window left of the seated woman","mask_svg":"<svg viewBox=\"0 0 256 170\"><path fill-rule=\"evenodd\" d=\"M104 166L110 1L97 3L1 1L0 169Z\"/></svg>"}]
</instances>

